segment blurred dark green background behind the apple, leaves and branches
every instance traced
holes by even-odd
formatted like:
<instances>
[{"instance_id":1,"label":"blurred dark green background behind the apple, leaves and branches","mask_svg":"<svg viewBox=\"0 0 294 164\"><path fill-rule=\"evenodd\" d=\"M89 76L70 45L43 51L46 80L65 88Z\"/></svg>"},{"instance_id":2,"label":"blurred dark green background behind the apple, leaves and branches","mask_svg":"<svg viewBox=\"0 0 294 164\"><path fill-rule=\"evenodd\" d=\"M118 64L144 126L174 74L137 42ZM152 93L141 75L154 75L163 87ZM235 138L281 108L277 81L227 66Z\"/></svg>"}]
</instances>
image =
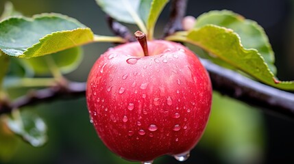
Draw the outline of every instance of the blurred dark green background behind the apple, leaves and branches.
<instances>
[{"instance_id":1,"label":"blurred dark green background behind the apple, leaves and branches","mask_svg":"<svg viewBox=\"0 0 294 164\"><path fill-rule=\"evenodd\" d=\"M5 0L0 0L0 13L4 3ZM26 16L58 12L77 18L97 34L112 35L95 0L13 0L12 3ZM222 9L233 10L262 25L275 51L278 77L294 79L294 1L189 1L187 14L198 16L209 10ZM162 34L168 14L169 5L157 24L158 36ZM84 46L82 64L66 77L86 81L95 60L110 46L113 45ZM47 102L29 107L27 111L34 111L44 118L49 128L49 142L42 148L33 148L0 124L0 163L130 163L112 154L97 137L89 122L85 98ZM293 163L293 130L293 121L215 93L204 137L184 163ZM180 162L164 156L154 163Z\"/></svg>"}]
</instances>

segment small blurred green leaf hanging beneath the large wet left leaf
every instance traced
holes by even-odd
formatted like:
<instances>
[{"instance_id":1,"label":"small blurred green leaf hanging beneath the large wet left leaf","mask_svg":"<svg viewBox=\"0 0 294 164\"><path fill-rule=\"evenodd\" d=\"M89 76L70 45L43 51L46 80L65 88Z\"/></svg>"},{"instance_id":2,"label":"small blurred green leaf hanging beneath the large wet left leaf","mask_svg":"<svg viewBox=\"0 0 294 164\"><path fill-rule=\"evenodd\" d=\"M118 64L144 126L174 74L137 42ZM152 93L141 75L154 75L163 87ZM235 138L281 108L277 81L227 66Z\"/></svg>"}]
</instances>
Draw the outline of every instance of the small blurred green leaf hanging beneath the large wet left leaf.
<instances>
[{"instance_id":1,"label":"small blurred green leaf hanging beneath the large wet left leaf","mask_svg":"<svg viewBox=\"0 0 294 164\"><path fill-rule=\"evenodd\" d=\"M81 63L82 56L82 48L79 46L51 54L54 63L63 74L75 70ZM23 59L22 61L23 64L26 64L27 68L30 69L29 72L33 71L35 75L45 75L51 73L45 56Z\"/></svg>"}]
</instances>

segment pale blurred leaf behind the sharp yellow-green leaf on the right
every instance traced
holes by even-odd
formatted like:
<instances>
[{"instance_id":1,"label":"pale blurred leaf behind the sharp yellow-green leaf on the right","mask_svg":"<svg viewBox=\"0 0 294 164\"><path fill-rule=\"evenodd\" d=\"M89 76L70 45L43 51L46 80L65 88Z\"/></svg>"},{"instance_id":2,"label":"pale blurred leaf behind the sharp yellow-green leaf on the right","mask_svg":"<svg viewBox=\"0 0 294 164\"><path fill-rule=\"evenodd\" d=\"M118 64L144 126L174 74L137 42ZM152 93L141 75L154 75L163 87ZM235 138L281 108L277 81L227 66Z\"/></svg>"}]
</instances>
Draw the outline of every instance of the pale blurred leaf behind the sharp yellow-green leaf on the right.
<instances>
[{"instance_id":1,"label":"pale blurred leaf behind the sharp yellow-green leaf on the right","mask_svg":"<svg viewBox=\"0 0 294 164\"><path fill-rule=\"evenodd\" d=\"M242 45L246 49L258 50L258 53L265 59L271 72L275 74L275 57L271 49L271 44L269 44L269 38L267 38L264 29L262 29L258 23L253 20L245 19L243 16L234 12L222 10L202 14L197 18L195 27L199 28L209 24L226 27L238 33Z\"/></svg>"}]
</instances>

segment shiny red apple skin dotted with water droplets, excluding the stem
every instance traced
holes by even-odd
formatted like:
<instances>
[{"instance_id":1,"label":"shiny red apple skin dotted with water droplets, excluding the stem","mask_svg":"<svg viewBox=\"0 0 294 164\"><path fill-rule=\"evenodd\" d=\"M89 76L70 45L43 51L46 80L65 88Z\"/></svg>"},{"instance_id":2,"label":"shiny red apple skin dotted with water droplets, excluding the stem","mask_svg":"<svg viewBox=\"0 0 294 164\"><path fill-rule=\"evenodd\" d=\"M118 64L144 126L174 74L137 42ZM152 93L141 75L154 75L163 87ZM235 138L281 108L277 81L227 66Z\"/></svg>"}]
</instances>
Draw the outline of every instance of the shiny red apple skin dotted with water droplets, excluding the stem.
<instances>
[{"instance_id":1,"label":"shiny red apple skin dotted with water droplets, excluding the stem","mask_svg":"<svg viewBox=\"0 0 294 164\"><path fill-rule=\"evenodd\" d=\"M190 151L208 117L212 86L208 72L185 46L138 42L110 48L88 76L91 122L112 152L130 161L152 161Z\"/></svg>"}]
</instances>

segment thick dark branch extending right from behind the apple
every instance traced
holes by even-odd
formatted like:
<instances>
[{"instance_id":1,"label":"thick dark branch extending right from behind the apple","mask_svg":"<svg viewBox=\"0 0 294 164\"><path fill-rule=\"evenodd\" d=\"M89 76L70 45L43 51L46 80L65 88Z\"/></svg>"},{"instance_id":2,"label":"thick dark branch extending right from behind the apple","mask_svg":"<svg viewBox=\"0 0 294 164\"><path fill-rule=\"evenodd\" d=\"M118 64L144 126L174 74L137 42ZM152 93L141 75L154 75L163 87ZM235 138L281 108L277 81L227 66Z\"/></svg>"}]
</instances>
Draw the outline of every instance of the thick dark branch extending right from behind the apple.
<instances>
[{"instance_id":1,"label":"thick dark branch extending right from behind the apple","mask_svg":"<svg viewBox=\"0 0 294 164\"><path fill-rule=\"evenodd\" d=\"M267 112L294 119L294 94L278 90L201 59L210 74L213 90Z\"/></svg>"}]
</instances>

